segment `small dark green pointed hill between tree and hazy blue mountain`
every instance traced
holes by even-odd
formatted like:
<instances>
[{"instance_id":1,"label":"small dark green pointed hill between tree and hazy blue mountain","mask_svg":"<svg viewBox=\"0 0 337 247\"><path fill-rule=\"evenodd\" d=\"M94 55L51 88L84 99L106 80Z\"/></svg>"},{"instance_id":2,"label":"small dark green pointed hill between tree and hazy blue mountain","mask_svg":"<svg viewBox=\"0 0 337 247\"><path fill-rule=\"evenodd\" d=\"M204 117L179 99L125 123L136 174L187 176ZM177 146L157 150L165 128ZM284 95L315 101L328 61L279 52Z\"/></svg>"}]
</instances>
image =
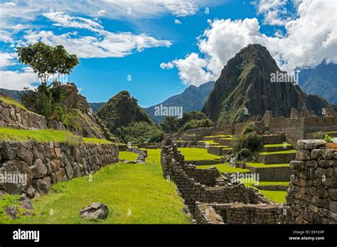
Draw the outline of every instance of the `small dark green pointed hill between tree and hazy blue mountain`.
<instances>
[{"instance_id":1,"label":"small dark green pointed hill between tree and hazy blue mountain","mask_svg":"<svg viewBox=\"0 0 337 247\"><path fill-rule=\"evenodd\" d=\"M127 91L121 91L110 98L97 115L111 133L116 133L117 128L129 126L133 122L153 124L150 117L138 105L137 99Z\"/></svg>"}]
</instances>

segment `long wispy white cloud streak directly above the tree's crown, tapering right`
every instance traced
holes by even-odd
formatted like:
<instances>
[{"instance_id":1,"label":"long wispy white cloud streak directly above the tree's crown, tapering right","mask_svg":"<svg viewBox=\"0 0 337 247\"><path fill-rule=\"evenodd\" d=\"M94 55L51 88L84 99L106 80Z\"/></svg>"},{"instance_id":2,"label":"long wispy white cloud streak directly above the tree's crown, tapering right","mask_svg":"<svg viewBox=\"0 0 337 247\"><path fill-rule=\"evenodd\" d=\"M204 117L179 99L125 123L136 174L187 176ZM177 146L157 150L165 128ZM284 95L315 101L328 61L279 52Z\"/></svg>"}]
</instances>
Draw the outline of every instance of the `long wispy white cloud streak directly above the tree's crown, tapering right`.
<instances>
[{"instance_id":1,"label":"long wispy white cloud streak directly above the tree's crown, tapering right","mask_svg":"<svg viewBox=\"0 0 337 247\"><path fill-rule=\"evenodd\" d=\"M145 48L171 45L169 40L156 40L145 34L110 33L103 30L100 31L99 37L78 37L77 33L55 35L52 31L30 31L23 38L26 40L23 45L30 45L41 40L48 45L63 45L68 52L75 53L82 58L124 57Z\"/></svg>"}]
</instances>

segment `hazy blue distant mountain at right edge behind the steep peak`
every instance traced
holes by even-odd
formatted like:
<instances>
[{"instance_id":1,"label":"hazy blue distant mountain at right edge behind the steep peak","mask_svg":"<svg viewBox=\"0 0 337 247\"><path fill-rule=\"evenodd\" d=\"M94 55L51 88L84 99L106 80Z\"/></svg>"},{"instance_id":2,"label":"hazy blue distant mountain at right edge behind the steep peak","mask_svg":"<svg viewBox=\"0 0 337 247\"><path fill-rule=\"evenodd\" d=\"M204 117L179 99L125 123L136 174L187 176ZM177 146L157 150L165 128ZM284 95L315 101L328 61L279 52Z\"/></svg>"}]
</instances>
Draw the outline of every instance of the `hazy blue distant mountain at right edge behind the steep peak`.
<instances>
[{"instance_id":1,"label":"hazy blue distant mountain at right edge behind the steep peak","mask_svg":"<svg viewBox=\"0 0 337 247\"><path fill-rule=\"evenodd\" d=\"M323 60L314 68L302 69L299 86L307 94L317 94L331 104L337 104L337 65Z\"/></svg>"}]
</instances>

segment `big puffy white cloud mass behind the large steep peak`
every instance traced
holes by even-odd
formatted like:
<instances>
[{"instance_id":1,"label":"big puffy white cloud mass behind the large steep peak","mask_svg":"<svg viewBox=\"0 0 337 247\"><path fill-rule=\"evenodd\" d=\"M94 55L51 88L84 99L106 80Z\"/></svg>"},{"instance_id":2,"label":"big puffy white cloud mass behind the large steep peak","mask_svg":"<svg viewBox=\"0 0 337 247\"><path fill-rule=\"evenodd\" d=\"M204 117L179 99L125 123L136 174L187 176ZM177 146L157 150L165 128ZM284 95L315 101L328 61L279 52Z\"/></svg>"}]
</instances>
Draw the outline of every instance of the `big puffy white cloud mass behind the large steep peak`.
<instances>
[{"instance_id":1,"label":"big puffy white cloud mass behind the large steep peak","mask_svg":"<svg viewBox=\"0 0 337 247\"><path fill-rule=\"evenodd\" d=\"M299 17L285 23L287 33L275 37L260 32L257 18L209 21L210 28L198 41L205 58L191 53L172 63L184 83L198 85L218 78L228 60L250 43L266 46L282 70L289 72L295 67L317 65L324 58L337 62L336 9L336 1L304 0L298 6ZM193 59L198 68L191 67Z\"/></svg>"}]
</instances>

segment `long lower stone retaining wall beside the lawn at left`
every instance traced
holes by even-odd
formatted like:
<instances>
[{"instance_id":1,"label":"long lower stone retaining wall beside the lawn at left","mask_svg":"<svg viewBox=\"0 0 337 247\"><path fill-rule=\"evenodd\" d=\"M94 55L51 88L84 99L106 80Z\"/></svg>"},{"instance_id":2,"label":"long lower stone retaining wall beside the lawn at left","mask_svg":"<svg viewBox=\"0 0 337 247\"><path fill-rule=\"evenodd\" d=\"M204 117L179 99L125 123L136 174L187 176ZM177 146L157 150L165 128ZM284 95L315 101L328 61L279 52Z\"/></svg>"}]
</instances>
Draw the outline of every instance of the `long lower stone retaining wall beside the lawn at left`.
<instances>
[{"instance_id":1,"label":"long lower stone retaining wall beside the lawn at left","mask_svg":"<svg viewBox=\"0 0 337 247\"><path fill-rule=\"evenodd\" d=\"M28 197L46 194L50 185L96 172L118 161L114 144L0 141L0 177L23 175L24 181L0 180L0 190Z\"/></svg>"}]
</instances>

